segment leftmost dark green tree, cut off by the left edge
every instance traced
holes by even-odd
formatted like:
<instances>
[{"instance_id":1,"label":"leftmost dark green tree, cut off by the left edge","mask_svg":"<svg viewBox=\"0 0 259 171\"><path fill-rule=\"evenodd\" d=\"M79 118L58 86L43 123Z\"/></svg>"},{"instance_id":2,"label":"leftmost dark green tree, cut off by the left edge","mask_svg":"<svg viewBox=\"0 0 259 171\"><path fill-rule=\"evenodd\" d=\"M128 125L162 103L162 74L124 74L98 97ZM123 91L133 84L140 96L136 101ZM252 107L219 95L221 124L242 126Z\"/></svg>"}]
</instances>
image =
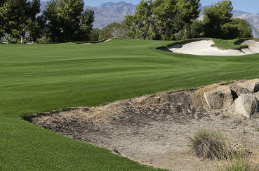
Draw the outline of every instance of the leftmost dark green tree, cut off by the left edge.
<instances>
[{"instance_id":1,"label":"leftmost dark green tree, cut off by the left edge","mask_svg":"<svg viewBox=\"0 0 259 171\"><path fill-rule=\"evenodd\" d=\"M24 43L40 13L40 0L0 0L0 34L9 43Z\"/></svg>"}]
</instances>

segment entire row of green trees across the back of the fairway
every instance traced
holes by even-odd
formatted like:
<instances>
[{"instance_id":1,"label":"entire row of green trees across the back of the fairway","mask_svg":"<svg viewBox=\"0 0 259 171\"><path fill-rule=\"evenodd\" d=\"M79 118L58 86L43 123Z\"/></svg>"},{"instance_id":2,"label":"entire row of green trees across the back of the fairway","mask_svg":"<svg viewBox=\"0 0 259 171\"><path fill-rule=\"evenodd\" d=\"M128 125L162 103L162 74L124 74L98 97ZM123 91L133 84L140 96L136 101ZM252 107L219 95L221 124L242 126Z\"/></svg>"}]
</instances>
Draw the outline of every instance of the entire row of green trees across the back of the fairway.
<instances>
[{"instance_id":1,"label":"entire row of green trees across the back of the fairway","mask_svg":"<svg viewBox=\"0 0 259 171\"><path fill-rule=\"evenodd\" d=\"M40 0L0 0L0 37L8 43L31 39L59 43L96 41L109 37L147 40L181 40L197 37L236 39L252 37L250 24L232 18L230 0L203 9L200 0L141 0L134 15L122 23L93 29L94 11L83 10L83 0L50 0L41 16Z\"/></svg>"}]
</instances>

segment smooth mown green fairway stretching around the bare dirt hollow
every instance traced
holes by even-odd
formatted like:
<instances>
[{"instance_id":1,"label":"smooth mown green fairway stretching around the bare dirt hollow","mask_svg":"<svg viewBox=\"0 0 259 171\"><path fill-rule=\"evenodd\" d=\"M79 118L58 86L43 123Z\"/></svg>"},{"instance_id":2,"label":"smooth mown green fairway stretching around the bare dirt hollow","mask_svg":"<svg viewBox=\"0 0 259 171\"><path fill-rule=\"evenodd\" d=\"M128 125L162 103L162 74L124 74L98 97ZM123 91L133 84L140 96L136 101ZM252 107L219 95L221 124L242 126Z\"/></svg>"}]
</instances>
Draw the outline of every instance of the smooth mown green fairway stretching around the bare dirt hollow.
<instances>
[{"instance_id":1,"label":"smooth mown green fairway stretching around the bare dirt hollow","mask_svg":"<svg viewBox=\"0 0 259 171\"><path fill-rule=\"evenodd\" d=\"M21 116L258 77L259 54L198 56L155 49L170 43L117 38L89 45L1 44L0 170L154 171Z\"/></svg>"}]
</instances>

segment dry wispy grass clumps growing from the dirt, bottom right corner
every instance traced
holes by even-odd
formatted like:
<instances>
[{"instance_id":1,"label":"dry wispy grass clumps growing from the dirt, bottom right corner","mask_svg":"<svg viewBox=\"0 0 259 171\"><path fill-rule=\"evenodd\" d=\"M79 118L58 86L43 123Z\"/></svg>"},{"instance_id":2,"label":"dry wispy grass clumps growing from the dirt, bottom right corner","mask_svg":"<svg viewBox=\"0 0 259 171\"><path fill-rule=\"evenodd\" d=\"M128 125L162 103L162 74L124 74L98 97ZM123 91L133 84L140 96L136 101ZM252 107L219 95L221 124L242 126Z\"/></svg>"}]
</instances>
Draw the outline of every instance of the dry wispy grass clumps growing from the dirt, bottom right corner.
<instances>
[{"instance_id":1,"label":"dry wispy grass clumps growing from the dirt, bottom right corner","mask_svg":"<svg viewBox=\"0 0 259 171\"><path fill-rule=\"evenodd\" d=\"M216 171L259 171L258 154L229 143L222 131L201 129L190 137L190 142L196 155L215 160Z\"/></svg>"}]
</instances>

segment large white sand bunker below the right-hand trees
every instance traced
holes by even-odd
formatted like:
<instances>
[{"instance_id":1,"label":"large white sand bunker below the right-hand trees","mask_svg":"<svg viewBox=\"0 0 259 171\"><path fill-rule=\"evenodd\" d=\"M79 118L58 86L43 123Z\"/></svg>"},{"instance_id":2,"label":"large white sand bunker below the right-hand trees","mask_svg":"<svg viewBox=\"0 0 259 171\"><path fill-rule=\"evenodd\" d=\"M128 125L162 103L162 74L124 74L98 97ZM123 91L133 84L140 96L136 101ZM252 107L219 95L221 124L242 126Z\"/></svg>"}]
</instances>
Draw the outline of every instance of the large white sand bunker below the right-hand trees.
<instances>
[{"instance_id":1,"label":"large white sand bunker below the right-hand trees","mask_svg":"<svg viewBox=\"0 0 259 171\"><path fill-rule=\"evenodd\" d=\"M185 53L185 54L195 54L195 55L215 55L215 56L229 56L229 55L245 55L259 53L259 42L255 40L245 40L237 42L236 45L248 45L248 48L241 50L220 50L215 47L211 47L214 42L213 40L199 40L196 42L188 42L177 44L164 49L164 51L171 51L174 53Z\"/></svg>"}]
</instances>

